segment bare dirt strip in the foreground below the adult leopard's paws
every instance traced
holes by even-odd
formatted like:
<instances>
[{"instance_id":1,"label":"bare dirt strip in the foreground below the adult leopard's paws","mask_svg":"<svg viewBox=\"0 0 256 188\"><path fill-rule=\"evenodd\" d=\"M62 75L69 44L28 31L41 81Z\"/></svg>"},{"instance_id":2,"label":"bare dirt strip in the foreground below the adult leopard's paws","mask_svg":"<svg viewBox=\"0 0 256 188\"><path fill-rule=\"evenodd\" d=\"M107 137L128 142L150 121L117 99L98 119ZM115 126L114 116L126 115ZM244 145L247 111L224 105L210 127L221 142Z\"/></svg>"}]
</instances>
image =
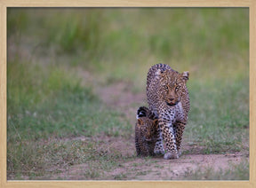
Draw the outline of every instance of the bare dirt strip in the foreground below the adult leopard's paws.
<instances>
[{"instance_id":1,"label":"bare dirt strip in the foreground below the adult leopard's paws","mask_svg":"<svg viewBox=\"0 0 256 188\"><path fill-rule=\"evenodd\" d=\"M145 159L138 158L132 162L124 163L122 168L116 168L110 172L110 175L115 177L126 174L126 178L129 180L182 180L186 174L195 172L200 168L212 168L215 171L225 170L230 168L230 165L239 164L243 159L242 153L229 155L188 154L172 161L166 161L161 157L153 158L147 162Z\"/></svg>"}]
</instances>

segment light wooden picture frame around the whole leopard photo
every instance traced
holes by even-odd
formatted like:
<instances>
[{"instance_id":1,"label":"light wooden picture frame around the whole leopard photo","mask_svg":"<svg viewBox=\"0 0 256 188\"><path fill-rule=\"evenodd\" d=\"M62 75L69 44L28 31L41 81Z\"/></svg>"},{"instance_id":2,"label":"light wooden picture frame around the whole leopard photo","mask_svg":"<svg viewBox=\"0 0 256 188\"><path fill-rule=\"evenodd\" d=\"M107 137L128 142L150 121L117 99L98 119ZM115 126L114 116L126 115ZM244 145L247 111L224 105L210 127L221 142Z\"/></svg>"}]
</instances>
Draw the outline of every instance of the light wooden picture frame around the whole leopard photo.
<instances>
[{"instance_id":1,"label":"light wooden picture frame around the whole leopard photo","mask_svg":"<svg viewBox=\"0 0 256 188\"><path fill-rule=\"evenodd\" d=\"M250 179L249 181L7 181L6 14L7 7L248 7L250 13ZM256 2L252 0L0 0L0 187L256 187Z\"/></svg>"}]
</instances>

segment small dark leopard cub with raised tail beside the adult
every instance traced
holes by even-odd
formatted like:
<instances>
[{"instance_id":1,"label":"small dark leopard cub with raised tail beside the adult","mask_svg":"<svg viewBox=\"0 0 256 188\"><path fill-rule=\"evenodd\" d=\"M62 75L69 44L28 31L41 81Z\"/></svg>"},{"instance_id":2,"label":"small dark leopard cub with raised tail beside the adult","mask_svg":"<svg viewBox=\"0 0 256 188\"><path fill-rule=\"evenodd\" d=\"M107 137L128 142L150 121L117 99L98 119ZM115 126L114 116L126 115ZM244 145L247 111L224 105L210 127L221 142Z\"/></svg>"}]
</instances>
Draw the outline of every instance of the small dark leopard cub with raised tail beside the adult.
<instances>
[{"instance_id":1,"label":"small dark leopard cub with raised tail beside the adult","mask_svg":"<svg viewBox=\"0 0 256 188\"><path fill-rule=\"evenodd\" d=\"M137 110L135 147L137 156L155 156L158 120L145 106Z\"/></svg>"}]
</instances>

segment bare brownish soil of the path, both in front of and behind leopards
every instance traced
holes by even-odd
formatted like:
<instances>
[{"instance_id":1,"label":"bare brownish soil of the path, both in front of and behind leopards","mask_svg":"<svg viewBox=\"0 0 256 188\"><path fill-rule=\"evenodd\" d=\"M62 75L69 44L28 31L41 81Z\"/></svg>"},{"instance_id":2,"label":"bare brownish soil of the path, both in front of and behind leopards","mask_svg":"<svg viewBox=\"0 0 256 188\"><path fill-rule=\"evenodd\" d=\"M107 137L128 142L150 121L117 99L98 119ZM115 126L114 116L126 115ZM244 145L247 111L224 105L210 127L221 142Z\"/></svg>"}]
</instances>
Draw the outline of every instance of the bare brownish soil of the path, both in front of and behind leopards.
<instances>
[{"instance_id":1,"label":"bare brownish soil of the path, both in front of and behind leopards","mask_svg":"<svg viewBox=\"0 0 256 188\"><path fill-rule=\"evenodd\" d=\"M95 92L100 95L102 101L109 107L122 110L131 121L131 124L136 121L135 114L139 105L146 104L146 94L132 93L129 90L129 84L124 82L96 88ZM105 144L102 145L102 148L119 151L122 156L132 159L130 161L122 161L118 168L104 172L104 177L101 180L182 180L182 177L186 176L186 174L199 168L212 168L214 171L225 170L233 164L239 164L244 159L249 160L249 154L244 152L202 154L204 149L202 146L189 143L184 143L182 147L184 154L177 160L166 161L163 156L134 157L136 155L134 134L129 138L107 136L94 138L104 141ZM85 141L87 138L76 137L75 139ZM74 165L66 171L51 176L51 179L84 179L84 170L86 168L88 168L88 164Z\"/></svg>"}]
</instances>

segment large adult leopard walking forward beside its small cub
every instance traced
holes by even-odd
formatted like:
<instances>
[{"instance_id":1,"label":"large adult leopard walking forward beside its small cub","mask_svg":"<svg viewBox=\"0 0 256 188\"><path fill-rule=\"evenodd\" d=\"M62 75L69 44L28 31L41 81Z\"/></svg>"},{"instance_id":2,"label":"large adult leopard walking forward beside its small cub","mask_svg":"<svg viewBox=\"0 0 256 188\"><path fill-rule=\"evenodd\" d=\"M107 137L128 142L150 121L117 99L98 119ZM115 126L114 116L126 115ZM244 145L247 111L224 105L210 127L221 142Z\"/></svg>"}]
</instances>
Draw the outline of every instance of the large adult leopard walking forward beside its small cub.
<instances>
[{"instance_id":1,"label":"large adult leopard walking forward beside its small cub","mask_svg":"<svg viewBox=\"0 0 256 188\"><path fill-rule=\"evenodd\" d=\"M148 70L148 108L158 119L154 151L163 154L164 160L178 159L181 155L182 135L190 108L188 77L188 71L179 73L161 63Z\"/></svg>"}]
</instances>

